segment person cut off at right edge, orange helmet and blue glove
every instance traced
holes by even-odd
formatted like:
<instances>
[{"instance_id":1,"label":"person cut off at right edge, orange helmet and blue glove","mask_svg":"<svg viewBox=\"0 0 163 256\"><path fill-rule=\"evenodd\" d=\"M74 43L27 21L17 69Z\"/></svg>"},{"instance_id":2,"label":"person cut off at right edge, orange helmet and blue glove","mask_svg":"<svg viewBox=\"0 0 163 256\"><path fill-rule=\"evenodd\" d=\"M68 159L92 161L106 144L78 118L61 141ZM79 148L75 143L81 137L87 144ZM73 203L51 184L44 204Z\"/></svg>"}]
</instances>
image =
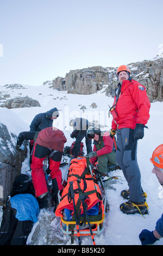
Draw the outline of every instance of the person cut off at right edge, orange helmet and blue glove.
<instances>
[{"instance_id":1,"label":"person cut off at right edge, orange helmet and blue glove","mask_svg":"<svg viewBox=\"0 0 163 256\"><path fill-rule=\"evenodd\" d=\"M156 178L158 178L159 183L163 187L163 144L159 145L153 151L150 160L154 165L152 173L156 175ZM158 241L161 237L163 237L163 214L156 222L155 229L153 231L143 229L139 235L139 239L142 245L153 245L153 243Z\"/></svg>"}]
</instances>

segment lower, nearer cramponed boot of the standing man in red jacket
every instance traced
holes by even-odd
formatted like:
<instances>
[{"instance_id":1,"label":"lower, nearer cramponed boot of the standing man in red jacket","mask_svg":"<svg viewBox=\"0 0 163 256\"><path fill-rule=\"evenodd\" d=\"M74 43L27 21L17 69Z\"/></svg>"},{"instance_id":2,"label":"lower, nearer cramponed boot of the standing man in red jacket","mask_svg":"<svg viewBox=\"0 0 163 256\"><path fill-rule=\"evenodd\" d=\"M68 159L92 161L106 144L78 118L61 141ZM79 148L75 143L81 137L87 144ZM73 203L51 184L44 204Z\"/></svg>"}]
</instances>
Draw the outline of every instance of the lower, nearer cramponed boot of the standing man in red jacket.
<instances>
[{"instance_id":1,"label":"lower, nearer cramponed boot of the standing man in red jacket","mask_svg":"<svg viewBox=\"0 0 163 256\"><path fill-rule=\"evenodd\" d=\"M148 204L146 202L132 202L128 200L128 202L120 205L120 209L124 214L148 214Z\"/></svg>"}]
</instances>

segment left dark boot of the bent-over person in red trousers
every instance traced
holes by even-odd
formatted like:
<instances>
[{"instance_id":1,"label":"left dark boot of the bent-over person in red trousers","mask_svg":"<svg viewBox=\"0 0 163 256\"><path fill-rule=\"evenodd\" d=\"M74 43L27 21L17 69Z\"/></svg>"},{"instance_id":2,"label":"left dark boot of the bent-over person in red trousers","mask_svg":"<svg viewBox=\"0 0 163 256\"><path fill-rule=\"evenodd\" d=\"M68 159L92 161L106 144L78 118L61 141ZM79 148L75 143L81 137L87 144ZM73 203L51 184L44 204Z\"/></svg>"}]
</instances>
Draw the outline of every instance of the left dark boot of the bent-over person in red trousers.
<instances>
[{"instance_id":1,"label":"left dark boot of the bent-over person in red trousers","mask_svg":"<svg viewBox=\"0 0 163 256\"><path fill-rule=\"evenodd\" d=\"M48 191L47 193L41 194L41 196L37 197L37 201L39 203L40 209L42 208L52 208L54 206L52 194Z\"/></svg>"}]
</instances>

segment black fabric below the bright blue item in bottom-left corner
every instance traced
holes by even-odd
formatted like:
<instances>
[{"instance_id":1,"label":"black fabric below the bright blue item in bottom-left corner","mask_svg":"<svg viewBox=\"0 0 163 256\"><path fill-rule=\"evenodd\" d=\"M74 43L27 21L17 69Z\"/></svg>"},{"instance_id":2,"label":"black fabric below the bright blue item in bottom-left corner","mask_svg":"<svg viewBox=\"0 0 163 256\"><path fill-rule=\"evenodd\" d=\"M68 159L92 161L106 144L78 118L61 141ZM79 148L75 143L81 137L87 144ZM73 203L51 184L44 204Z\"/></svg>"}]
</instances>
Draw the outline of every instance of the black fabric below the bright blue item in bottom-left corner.
<instances>
[{"instance_id":1,"label":"black fabric below the bright blue item in bottom-left corner","mask_svg":"<svg viewBox=\"0 0 163 256\"><path fill-rule=\"evenodd\" d=\"M26 245L28 235L33 228L32 221L18 221L16 210L7 205L3 212L0 229L0 245Z\"/></svg>"}]
</instances>

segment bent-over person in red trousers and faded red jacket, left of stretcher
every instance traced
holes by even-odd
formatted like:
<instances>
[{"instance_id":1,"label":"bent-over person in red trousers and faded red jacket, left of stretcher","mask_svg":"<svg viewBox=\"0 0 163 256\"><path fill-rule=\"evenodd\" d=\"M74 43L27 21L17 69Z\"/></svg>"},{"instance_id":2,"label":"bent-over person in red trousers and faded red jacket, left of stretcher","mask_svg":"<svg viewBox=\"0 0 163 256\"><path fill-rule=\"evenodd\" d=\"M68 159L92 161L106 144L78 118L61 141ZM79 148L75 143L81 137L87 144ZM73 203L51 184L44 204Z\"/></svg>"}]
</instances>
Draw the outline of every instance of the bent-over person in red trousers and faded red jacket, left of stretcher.
<instances>
[{"instance_id":1,"label":"bent-over person in red trousers and faded red jacket, left of stretcher","mask_svg":"<svg viewBox=\"0 0 163 256\"><path fill-rule=\"evenodd\" d=\"M53 155L49 159L49 170L52 178L52 194L54 200L54 211L58 206L58 191L63 186L62 173L59 168L64 144L67 139L62 131L55 127L47 127L39 132L37 136L33 156L32 156L32 180L35 189L35 196L38 198L40 208L53 207L51 193L48 191L45 174L43 172L43 160L49 156L52 151Z\"/></svg>"}]
</instances>

